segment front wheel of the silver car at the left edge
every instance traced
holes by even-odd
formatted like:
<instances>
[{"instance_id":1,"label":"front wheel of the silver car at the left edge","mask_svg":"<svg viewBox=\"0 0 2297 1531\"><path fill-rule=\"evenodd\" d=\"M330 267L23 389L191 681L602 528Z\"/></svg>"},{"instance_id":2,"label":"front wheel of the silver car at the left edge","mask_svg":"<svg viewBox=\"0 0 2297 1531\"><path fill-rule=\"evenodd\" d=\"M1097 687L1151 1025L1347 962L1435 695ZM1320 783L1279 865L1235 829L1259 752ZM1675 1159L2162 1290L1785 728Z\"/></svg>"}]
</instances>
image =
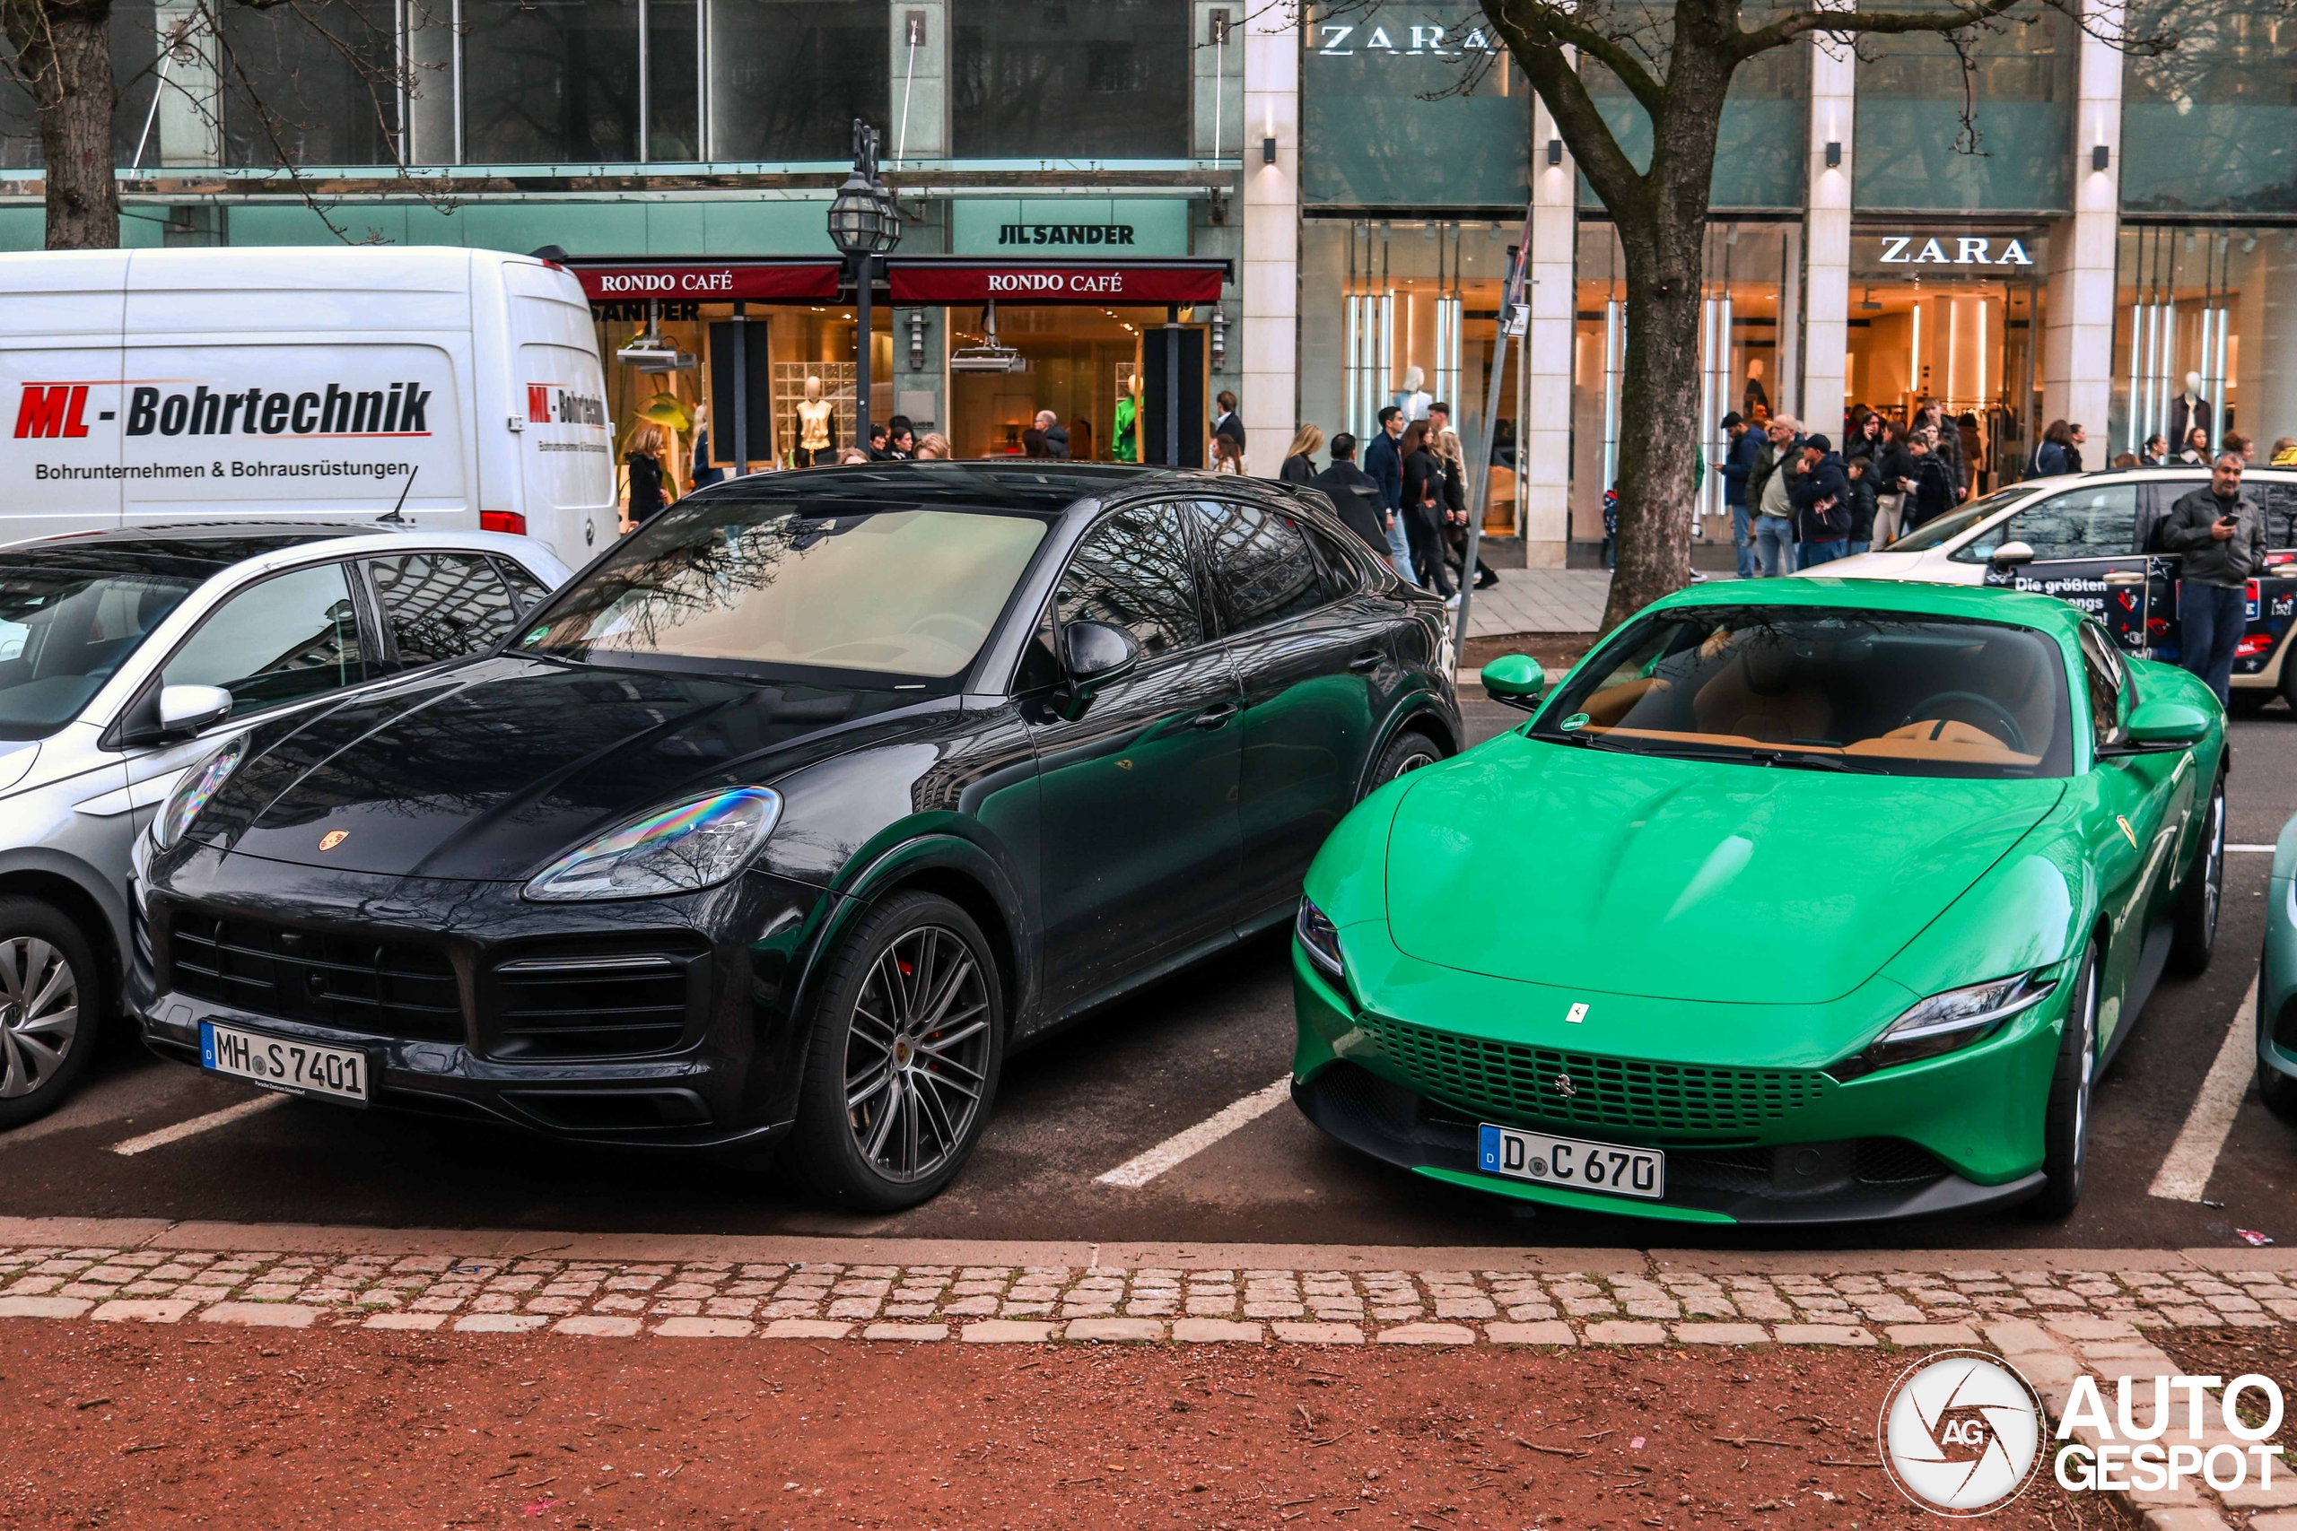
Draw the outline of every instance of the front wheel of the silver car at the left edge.
<instances>
[{"instance_id":1,"label":"front wheel of the silver car at the left edge","mask_svg":"<svg viewBox=\"0 0 2297 1531\"><path fill-rule=\"evenodd\" d=\"M78 925L37 897L0 897L0 1129L64 1104L103 1015L103 971Z\"/></svg>"}]
</instances>

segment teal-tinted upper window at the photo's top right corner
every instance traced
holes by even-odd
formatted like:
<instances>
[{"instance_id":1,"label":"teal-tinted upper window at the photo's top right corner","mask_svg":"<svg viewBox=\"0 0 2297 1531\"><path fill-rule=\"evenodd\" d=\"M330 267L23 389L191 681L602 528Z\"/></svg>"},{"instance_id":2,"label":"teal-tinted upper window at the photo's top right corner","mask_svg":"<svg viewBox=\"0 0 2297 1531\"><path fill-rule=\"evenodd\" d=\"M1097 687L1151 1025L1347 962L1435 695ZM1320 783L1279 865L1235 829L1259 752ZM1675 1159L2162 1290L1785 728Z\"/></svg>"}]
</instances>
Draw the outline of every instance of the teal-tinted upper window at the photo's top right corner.
<instances>
[{"instance_id":1,"label":"teal-tinted upper window at the photo's top right corner","mask_svg":"<svg viewBox=\"0 0 2297 1531\"><path fill-rule=\"evenodd\" d=\"M2297 211L2297 21L2235 0L2129 7L2178 46L2122 62L2122 207Z\"/></svg>"}]
</instances>

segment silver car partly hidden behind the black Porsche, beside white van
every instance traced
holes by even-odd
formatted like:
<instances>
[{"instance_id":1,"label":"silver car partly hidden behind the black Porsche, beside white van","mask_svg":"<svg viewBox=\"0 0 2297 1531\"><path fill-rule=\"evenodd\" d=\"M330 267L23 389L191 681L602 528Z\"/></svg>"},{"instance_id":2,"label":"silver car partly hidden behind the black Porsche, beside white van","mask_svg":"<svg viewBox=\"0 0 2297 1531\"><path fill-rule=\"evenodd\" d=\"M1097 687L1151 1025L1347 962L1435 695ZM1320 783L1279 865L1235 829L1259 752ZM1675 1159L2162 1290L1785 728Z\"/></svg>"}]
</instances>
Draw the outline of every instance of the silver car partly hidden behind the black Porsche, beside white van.
<instances>
[{"instance_id":1,"label":"silver car partly hidden behind the black Porsche, beside white van","mask_svg":"<svg viewBox=\"0 0 2297 1531\"><path fill-rule=\"evenodd\" d=\"M209 521L0 549L0 1129L119 1003L129 854L218 737L494 647L570 569L496 533Z\"/></svg>"}]
</instances>

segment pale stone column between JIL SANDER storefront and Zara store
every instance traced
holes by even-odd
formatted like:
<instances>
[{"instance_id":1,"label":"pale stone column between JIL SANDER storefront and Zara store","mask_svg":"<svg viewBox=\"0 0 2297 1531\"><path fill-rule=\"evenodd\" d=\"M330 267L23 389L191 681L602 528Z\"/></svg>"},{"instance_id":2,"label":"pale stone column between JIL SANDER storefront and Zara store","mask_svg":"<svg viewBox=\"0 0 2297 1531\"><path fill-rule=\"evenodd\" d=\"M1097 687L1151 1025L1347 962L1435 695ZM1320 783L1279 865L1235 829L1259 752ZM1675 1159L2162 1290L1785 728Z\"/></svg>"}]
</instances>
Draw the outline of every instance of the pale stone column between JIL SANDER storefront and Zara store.
<instances>
[{"instance_id":1,"label":"pale stone column between JIL SANDER storefront and Zara store","mask_svg":"<svg viewBox=\"0 0 2297 1531\"><path fill-rule=\"evenodd\" d=\"M1300 413L1300 21L1275 5L1231 14L1229 46L1243 50L1233 142L1245 145L1245 257L1229 372L1243 376L1236 406L1254 468L1275 475ZM1275 163L1263 158L1268 138Z\"/></svg>"}]
</instances>

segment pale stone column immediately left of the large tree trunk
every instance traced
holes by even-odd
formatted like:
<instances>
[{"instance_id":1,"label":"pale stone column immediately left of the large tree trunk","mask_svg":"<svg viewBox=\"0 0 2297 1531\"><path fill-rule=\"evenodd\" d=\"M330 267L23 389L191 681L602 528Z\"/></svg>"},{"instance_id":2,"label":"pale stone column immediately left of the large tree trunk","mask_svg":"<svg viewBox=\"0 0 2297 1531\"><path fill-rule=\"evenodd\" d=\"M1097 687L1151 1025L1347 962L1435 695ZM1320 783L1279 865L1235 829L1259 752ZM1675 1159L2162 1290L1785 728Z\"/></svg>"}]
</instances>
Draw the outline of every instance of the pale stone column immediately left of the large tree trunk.
<instances>
[{"instance_id":1,"label":"pale stone column immediately left of the large tree trunk","mask_svg":"<svg viewBox=\"0 0 2297 1531\"><path fill-rule=\"evenodd\" d=\"M1548 163L1548 145L1557 158ZM1532 264L1523 287L1532 319L1523 340L1523 420L1516 420L1516 507L1523 562L1562 569L1571 542L1571 321L1578 264L1578 161L1562 147L1548 103L1532 96ZM1509 367L1514 372L1516 367ZM1500 381L1502 402L1511 379Z\"/></svg>"}]
</instances>

